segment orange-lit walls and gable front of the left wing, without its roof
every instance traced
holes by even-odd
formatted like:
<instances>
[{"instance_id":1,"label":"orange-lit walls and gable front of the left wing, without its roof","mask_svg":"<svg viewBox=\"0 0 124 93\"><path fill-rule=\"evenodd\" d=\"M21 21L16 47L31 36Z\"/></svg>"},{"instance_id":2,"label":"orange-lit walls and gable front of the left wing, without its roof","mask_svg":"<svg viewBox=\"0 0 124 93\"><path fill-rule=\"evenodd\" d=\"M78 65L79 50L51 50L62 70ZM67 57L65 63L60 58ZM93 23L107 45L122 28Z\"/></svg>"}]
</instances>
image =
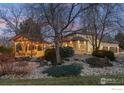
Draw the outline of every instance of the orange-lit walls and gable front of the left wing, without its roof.
<instances>
[{"instance_id":1,"label":"orange-lit walls and gable front of the left wing, without its roof","mask_svg":"<svg viewBox=\"0 0 124 93\"><path fill-rule=\"evenodd\" d=\"M50 44L32 42L26 38L18 38L16 41L12 41L14 44L14 53L15 57L42 57L47 48L50 47ZM18 50L18 44L21 46L21 49ZM33 46L33 49L31 47Z\"/></svg>"}]
</instances>

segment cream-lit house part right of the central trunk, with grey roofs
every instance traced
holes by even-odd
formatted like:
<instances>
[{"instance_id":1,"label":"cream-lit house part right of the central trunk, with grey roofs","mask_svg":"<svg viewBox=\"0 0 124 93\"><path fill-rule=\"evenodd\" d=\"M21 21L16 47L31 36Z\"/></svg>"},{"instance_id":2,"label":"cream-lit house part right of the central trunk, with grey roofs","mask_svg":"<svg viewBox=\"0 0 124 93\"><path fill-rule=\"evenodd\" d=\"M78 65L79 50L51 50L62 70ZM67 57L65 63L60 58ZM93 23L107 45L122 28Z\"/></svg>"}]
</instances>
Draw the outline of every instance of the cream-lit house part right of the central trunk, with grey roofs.
<instances>
[{"instance_id":1,"label":"cream-lit house part right of the central trunk, with grey roofs","mask_svg":"<svg viewBox=\"0 0 124 93\"><path fill-rule=\"evenodd\" d=\"M91 35L84 32L67 34L62 39L63 46L73 47L75 54L91 54L93 52L93 48L88 36ZM115 54L119 54L118 43L108 36L103 38L100 50L111 50Z\"/></svg>"}]
</instances>

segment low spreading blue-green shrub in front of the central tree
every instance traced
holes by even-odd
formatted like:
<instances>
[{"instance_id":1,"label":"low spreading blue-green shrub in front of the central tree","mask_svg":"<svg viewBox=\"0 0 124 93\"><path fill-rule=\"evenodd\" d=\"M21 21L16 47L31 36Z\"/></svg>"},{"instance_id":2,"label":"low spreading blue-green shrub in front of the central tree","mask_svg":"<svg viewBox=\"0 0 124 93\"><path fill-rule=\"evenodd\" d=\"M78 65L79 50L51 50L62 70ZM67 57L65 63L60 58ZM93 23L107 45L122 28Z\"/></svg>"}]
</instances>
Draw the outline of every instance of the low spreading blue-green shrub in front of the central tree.
<instances>
[{"instance_id":1,"label":"low spreading blue-green shrub in front of the central tree","mask_svg":"<svg viewBox=\"0 0 124 93\"><path fill-rule=\"evenodd\" d=\"M81 69L82 67L79 64L61 65L48 68L47 70L43 71L43 73L47 73L49 76L53 77L77 76L80 74Z\"/></svg>"}]
</instances>

